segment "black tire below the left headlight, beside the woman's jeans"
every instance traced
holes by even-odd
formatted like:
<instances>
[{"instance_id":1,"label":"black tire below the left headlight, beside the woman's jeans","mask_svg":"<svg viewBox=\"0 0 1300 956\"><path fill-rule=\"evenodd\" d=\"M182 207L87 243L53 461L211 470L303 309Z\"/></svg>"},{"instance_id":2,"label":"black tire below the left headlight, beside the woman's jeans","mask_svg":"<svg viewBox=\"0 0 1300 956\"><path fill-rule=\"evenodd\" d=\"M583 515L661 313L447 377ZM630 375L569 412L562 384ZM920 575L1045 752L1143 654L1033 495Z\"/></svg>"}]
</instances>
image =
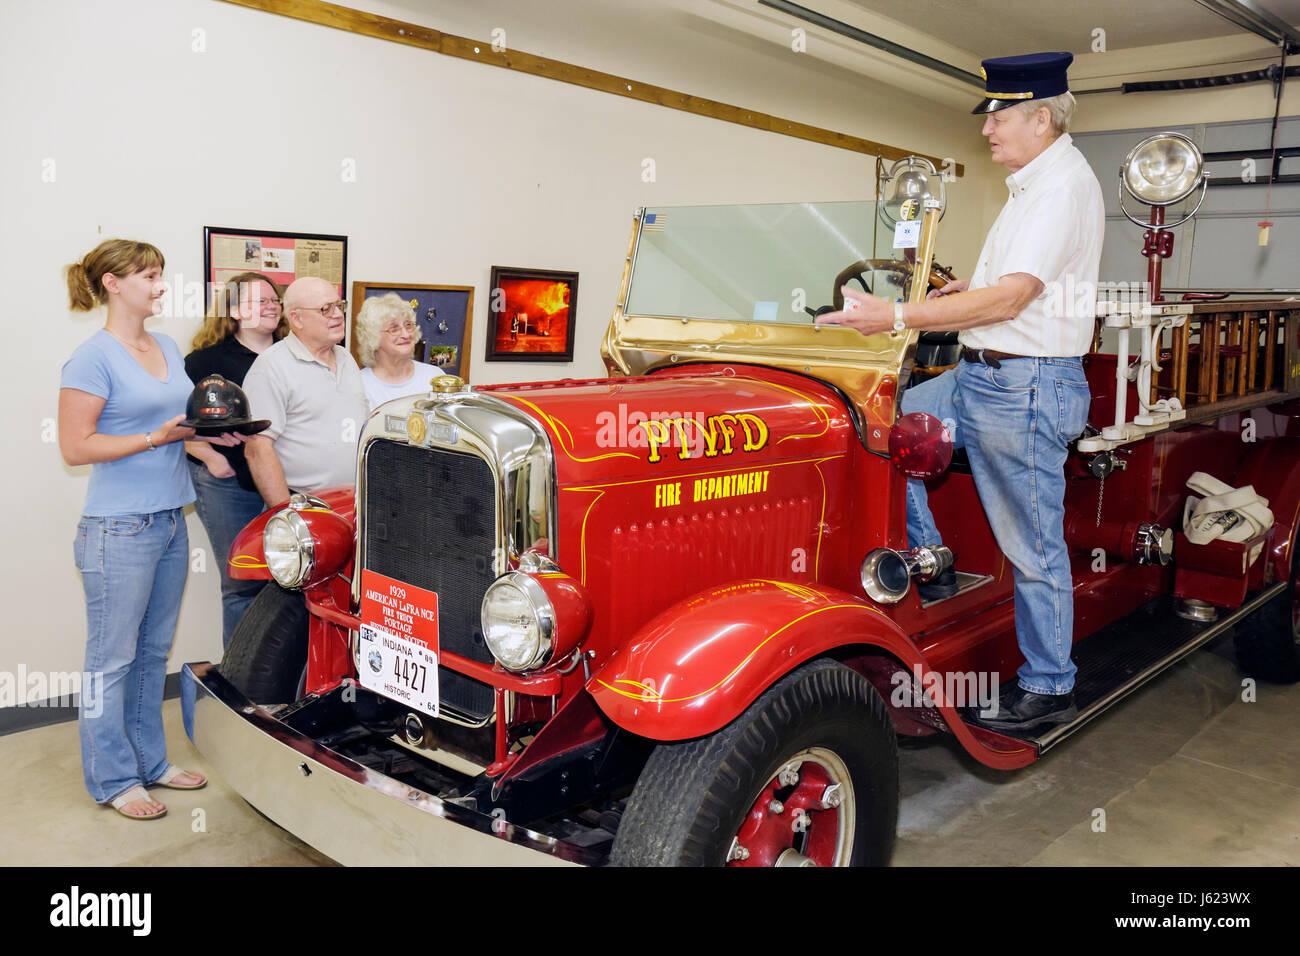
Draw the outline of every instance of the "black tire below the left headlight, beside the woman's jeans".
<instances>
[{"instance_id":1,"label":"black tire below the left headlight, beside the woman's jeans","mask_svg":"<svg viewBox=\"0 0 1300 956\"><path fill-rule=\"evenodd\" d=\"M307 667L309 619L302 592L269 581L244 611L217 670L255 704L292 704Z\"/></svg>"}]
</instances>

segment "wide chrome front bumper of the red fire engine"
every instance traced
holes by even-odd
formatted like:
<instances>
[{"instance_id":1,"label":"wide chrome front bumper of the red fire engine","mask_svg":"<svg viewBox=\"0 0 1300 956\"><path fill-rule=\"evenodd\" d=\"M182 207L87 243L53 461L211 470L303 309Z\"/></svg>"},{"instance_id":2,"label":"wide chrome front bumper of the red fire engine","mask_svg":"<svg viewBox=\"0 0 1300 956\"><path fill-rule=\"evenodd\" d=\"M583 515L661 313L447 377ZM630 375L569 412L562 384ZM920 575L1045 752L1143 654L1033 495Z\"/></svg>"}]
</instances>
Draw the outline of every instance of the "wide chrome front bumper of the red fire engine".
<instances>
[{"instance_id":1,"label":"wide chrome front bumper of the red fire engine","mask_svg":"<svg viewBox=\"0 0 1300 956\"><path fill-rule=\"evenodd\" d=\"M181 669L185 732L250 804L350 866L592 864L581 847L446 803L320 747L211 663ZM498 832L499 831L499 832Z\"/></svg>"}]
</instances>

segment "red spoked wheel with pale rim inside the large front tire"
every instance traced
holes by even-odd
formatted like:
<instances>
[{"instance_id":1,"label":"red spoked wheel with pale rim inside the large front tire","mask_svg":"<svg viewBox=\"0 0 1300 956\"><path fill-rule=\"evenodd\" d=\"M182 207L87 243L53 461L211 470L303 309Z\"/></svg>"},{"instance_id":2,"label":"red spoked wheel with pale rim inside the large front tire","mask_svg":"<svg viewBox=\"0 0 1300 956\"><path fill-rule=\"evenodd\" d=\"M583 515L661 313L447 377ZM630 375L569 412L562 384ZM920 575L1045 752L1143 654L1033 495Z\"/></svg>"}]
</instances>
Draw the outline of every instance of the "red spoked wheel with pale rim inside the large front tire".
<instances>
[{"instance_id":1,"label":"red spoked wheel with pale rim inside the large front tire","mask_svg":"<svg viewBox=\"0 0 1300 956\"><path fill-rule=\"evenodd\" d=\"M857 800L849 767L824 747L768 780L727 851L728 866L848 866Z\"/></svg>"}]
</instances>

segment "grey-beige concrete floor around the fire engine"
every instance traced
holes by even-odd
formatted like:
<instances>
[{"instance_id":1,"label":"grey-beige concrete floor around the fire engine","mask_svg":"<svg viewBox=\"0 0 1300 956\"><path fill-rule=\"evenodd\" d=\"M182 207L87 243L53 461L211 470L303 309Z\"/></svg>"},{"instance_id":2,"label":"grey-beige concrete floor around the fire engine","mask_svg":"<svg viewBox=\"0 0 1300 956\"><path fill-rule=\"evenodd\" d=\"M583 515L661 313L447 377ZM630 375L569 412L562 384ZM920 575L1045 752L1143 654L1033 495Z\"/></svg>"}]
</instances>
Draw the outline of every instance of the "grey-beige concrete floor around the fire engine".
<instances>
[{"instance_id":1,"label":"grey-beige concrete floor around the fire engine","mask_svg":"<svg viewBox=\"0 0 1300 956\"><path fill-rule=\"evenodd\" d=\"M172 760L211 777L179 701L164 714ZM988 770L946 737L907 744L893 862L1300 865L1297 717L1300 685L1260 684L1244 702L1219 641L1020 771ZM332 865L218 779L156 790L160 821L95 806L74 723L0 737L0 766L4 865Z\"/></svg>"}]
</instances>

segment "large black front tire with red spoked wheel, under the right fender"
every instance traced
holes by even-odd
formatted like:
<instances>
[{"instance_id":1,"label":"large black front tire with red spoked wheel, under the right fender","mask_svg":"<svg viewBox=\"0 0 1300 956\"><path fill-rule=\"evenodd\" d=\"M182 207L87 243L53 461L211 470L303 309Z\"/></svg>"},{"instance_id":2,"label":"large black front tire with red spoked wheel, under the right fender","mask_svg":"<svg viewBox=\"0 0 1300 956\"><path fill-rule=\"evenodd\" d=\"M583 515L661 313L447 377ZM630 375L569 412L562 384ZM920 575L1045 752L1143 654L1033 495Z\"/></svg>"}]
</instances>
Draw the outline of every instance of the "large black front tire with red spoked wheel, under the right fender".
<instances>
[{"instance_id":1,"label":"large black front tire with red spoked wheel, under the right fender","mask_svg":"<svg viewBox=\"0 0 1300 956\"><path fill-rule=\"evenodd\" d=\"M862 675L814 661L716 734L659 744L611 862L884 865L897 821L898 749L884 701Z\"/></svg>"}]
</instances>

